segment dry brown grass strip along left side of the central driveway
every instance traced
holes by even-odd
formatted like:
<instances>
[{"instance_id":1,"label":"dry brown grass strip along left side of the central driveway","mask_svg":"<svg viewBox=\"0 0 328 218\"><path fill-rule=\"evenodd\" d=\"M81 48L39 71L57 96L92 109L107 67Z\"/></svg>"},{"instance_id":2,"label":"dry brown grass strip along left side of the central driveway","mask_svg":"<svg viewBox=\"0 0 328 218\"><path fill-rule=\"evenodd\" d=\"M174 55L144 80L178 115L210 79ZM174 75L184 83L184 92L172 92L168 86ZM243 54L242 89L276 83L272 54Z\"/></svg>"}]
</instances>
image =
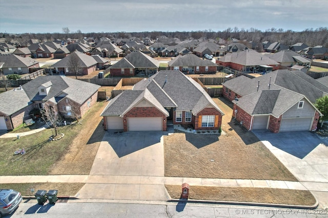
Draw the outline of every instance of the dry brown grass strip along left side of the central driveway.
<instances>
[{"instance_id":1,"label":"dry brown grass strip along left side of the central driveway","mask_svg":"<svg viewBox=\"0 0 328 218\"><path fill-rule=\"evenodd\" d=\"M101 105L97 107L94 116L86 116L82 121L86 125L85 128L73 140L67 154L53 165L49 175L89 175L100 142L105 135L103 117L99 115L107 102L98 103Z\"/></svg>"}]
</instances>

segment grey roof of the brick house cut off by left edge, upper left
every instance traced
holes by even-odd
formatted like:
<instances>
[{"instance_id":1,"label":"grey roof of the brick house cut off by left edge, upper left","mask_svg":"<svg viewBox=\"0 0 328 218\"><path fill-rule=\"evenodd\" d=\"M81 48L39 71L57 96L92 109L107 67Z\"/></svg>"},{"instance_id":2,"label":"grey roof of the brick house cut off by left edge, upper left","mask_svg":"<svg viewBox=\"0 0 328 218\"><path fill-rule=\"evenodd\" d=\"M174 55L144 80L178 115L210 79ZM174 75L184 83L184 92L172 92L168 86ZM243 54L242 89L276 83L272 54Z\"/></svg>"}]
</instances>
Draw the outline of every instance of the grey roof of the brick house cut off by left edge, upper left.
<instances>
[{"instance_id":1,"label":"grey roof of the brick house cut off by left edge, upper left","mask_svg":"<svg viewBox=\"0 0 328 218\"><path fill-rule=\"evenodd\" d=\"M15 54L0 54L0 62L5 62L3 68L27 68L38 63L30 57L20 57Z\"/></svg>"}]
</instances>

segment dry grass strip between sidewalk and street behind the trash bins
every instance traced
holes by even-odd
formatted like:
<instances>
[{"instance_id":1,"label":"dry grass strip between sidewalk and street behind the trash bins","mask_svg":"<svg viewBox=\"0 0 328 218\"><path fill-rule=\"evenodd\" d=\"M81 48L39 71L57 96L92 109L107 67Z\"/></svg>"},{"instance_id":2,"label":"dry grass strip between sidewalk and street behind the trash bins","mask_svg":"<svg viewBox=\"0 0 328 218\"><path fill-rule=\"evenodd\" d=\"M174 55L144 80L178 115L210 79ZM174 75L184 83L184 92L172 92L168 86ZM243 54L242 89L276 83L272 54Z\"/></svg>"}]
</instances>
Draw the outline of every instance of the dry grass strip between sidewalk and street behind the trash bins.
<instances>
[{"instance_id":1,"label":"dry grass strip between sidewalk and street behind the trash bins","mask_svg":"<svg viewBox=\"0 0 328 218\"><path fill-rule=\"evenodd\" d=\"M1 188L14 189L23 196L33 196L37 190L58 190L57 196L74 196L85 183L11 183L1 184ZM35 192L31 192L31 189Z\"/></svg>"}]
</instances>

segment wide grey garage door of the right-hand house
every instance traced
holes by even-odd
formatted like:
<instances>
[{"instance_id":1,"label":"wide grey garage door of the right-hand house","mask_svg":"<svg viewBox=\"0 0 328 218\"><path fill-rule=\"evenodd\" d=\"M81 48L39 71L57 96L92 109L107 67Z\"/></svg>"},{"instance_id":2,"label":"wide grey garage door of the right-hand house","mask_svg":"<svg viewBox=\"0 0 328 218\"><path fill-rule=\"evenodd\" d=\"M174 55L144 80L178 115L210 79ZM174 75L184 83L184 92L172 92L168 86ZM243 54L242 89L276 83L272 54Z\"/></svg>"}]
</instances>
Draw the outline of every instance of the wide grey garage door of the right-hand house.
<instances>
[{"instance_id":1,"label":"wide grey garage door of the right-hand house","mask_svg":"<svg viewBox=\"0 0 328 218\"><path fill-rule=\"evenodd\" d=\"M304 130L309 131L311 126L312 126L312 117L281 119L279 132L304 131Z\"/></svg>"}]
</instances>

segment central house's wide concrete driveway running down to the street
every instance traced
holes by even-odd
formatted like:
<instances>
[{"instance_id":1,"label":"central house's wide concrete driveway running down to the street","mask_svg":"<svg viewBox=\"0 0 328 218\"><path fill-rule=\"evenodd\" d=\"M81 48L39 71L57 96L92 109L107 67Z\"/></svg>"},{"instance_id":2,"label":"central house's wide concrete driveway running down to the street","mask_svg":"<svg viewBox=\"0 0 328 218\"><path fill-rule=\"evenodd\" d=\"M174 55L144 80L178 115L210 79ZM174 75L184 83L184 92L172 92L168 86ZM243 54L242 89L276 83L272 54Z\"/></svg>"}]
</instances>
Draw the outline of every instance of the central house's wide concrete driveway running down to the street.
<instances>
[{"instance_id":1,"label":"central house's wide concrete driveway running down to the street","mask_svg":"<svg viewBox=\"0 0 328 218\"><path fill-rule=\"evenodd\" d=\"M167 201L162 136L168 132L114 132L100 143L79 199Z\"/></svg>"}]
</instances>

